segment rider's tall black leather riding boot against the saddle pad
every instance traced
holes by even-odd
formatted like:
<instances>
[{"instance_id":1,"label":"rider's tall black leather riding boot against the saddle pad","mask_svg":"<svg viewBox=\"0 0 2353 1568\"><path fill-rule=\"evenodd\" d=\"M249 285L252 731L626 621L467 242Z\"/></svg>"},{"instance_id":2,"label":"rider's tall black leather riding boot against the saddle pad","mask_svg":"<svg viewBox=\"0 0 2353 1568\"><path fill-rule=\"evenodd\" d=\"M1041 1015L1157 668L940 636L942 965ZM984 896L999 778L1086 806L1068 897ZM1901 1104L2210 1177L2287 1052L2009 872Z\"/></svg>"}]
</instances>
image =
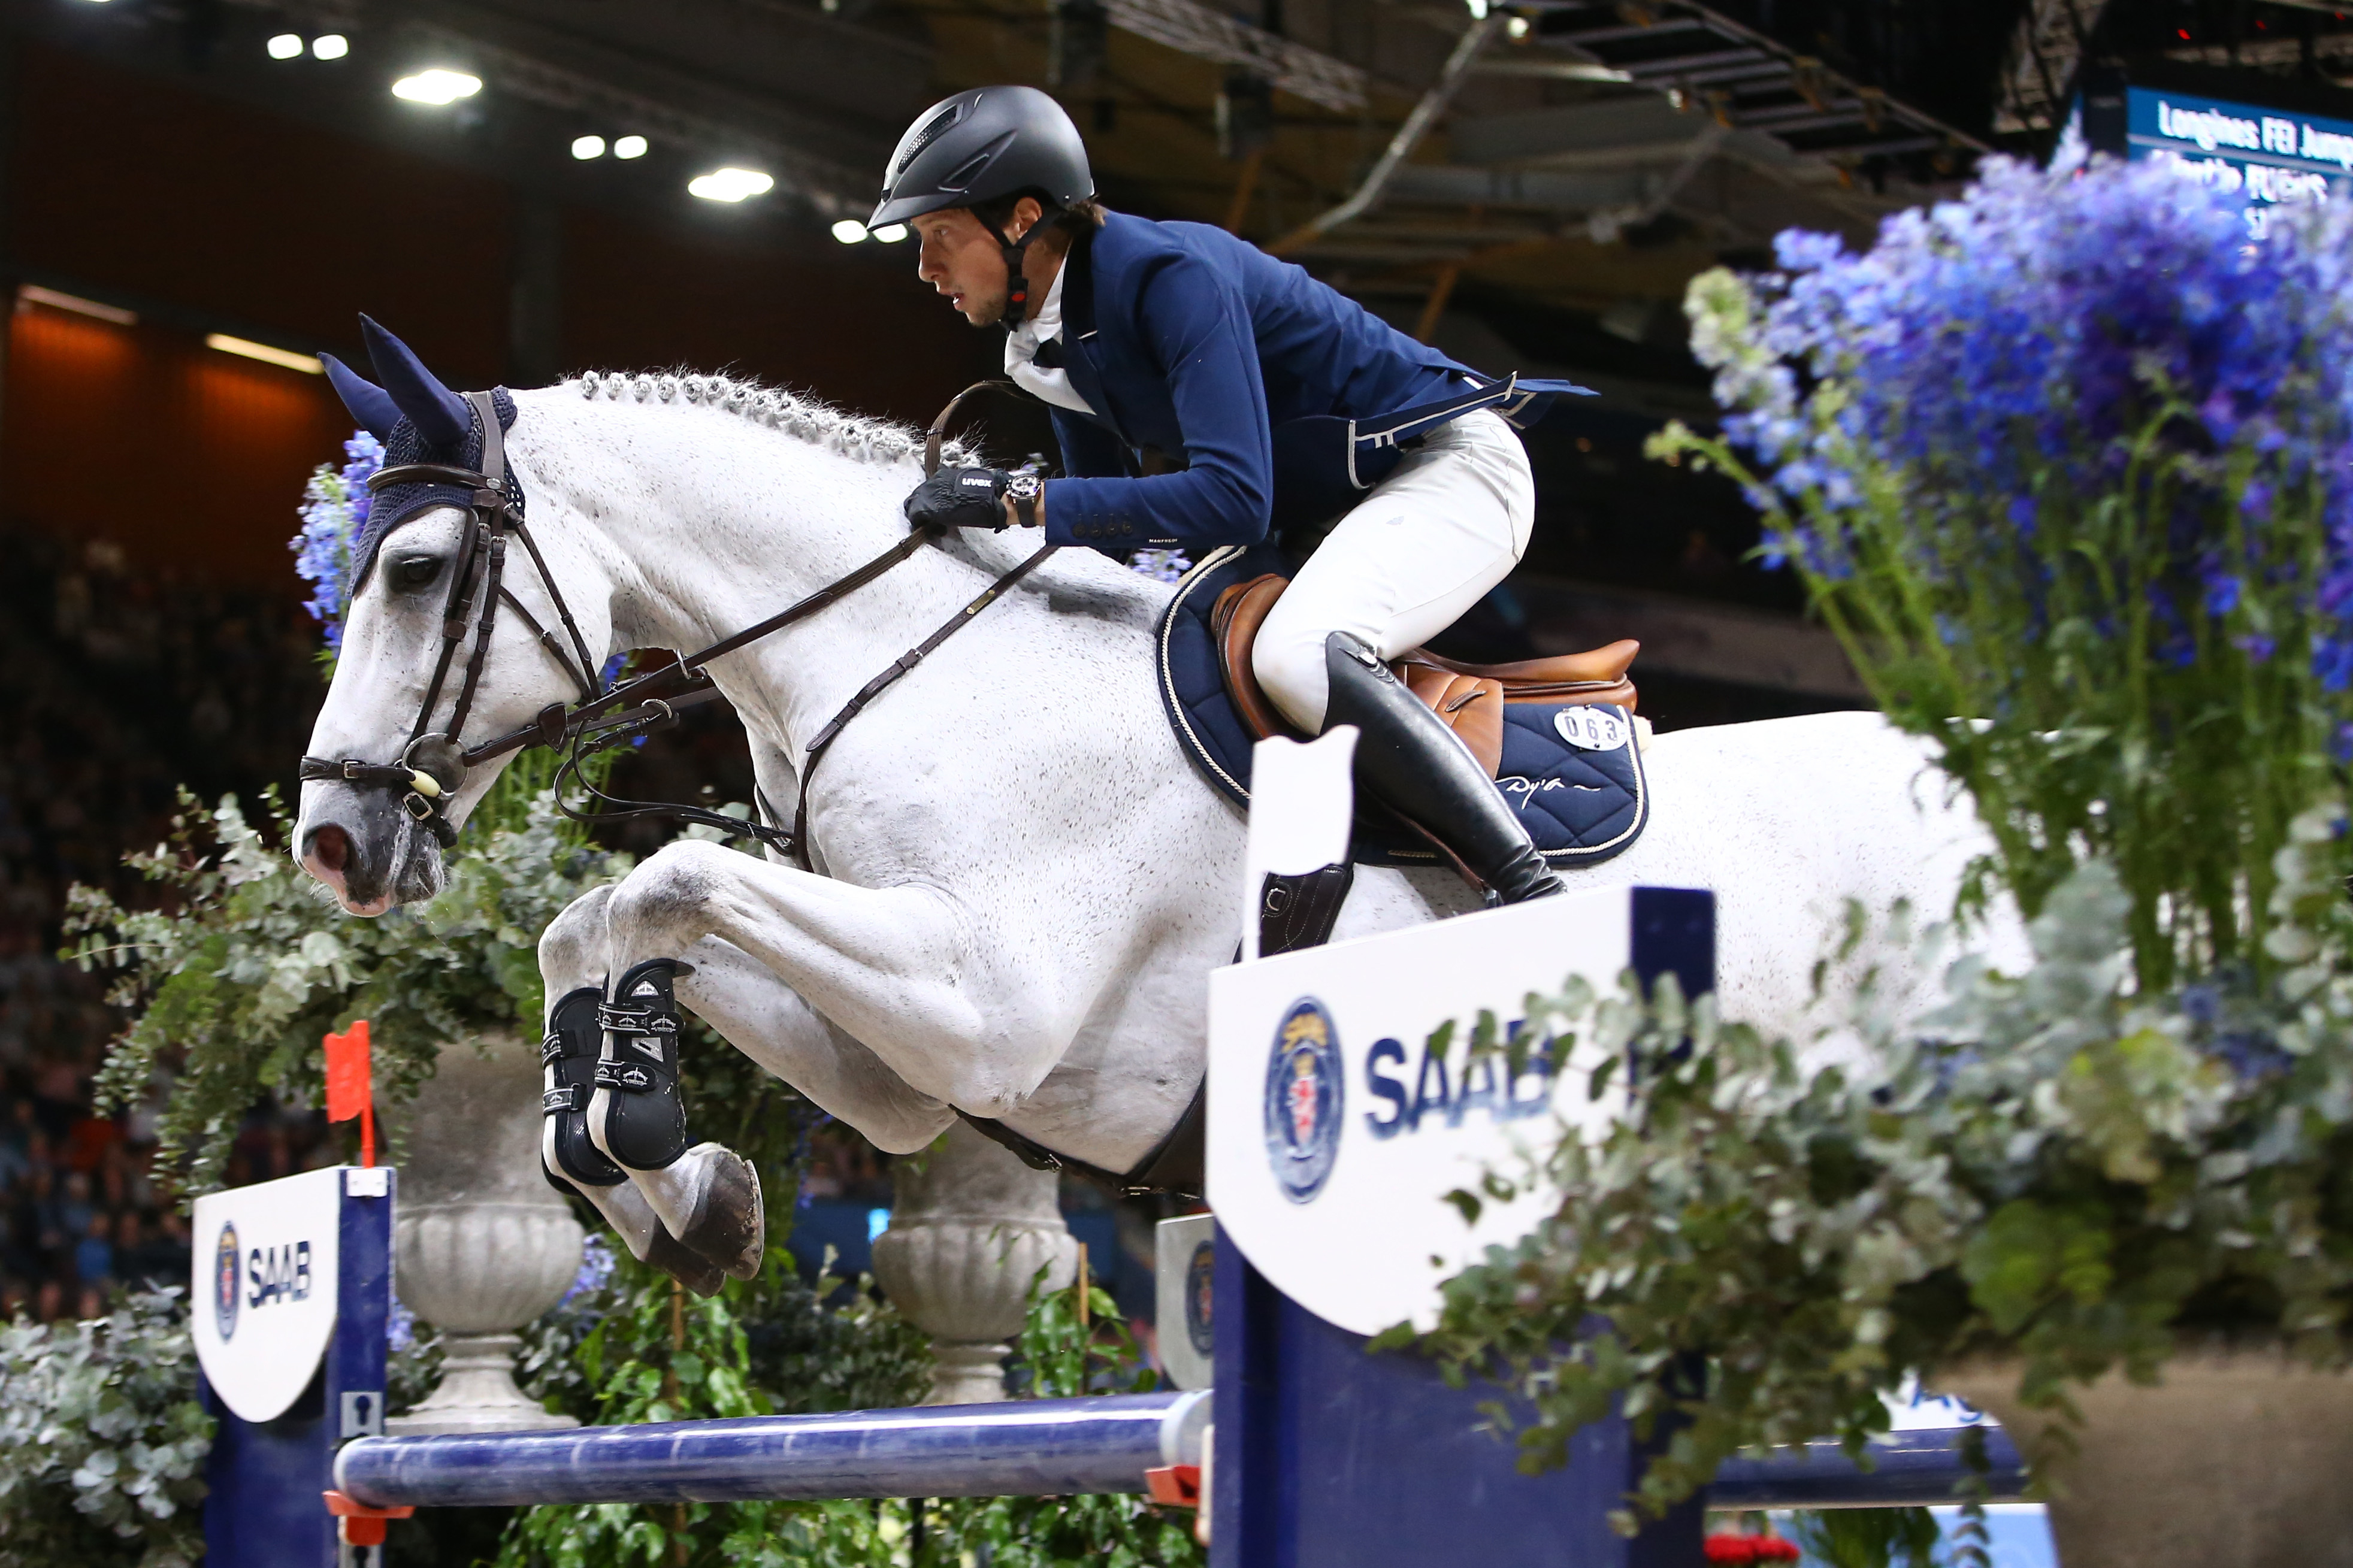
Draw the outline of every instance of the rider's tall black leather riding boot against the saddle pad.
<instances>
[{"instance_id":1,"label":"rider's tall black leather riding boot against the saddle pad","mask_svg":"<svg viewBox=\"0 0 2353 1568\"><path fill-rule=\"evenodd\" d=\"M1355 782L1428 831L1506 904L1562 892L1471 749L1355 636L1325 638L1325 730L1355 725Z\"/></svg>"}]
</instances>

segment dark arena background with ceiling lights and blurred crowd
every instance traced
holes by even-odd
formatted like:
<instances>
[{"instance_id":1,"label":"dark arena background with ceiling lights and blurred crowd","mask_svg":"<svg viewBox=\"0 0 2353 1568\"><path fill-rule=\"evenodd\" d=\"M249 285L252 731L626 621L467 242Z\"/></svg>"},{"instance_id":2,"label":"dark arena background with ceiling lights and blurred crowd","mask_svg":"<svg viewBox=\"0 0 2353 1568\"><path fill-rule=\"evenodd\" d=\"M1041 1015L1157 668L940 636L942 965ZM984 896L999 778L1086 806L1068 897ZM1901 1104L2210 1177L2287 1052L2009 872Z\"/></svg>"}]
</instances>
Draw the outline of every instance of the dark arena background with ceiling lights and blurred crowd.
<instances>
[{"instance_id":1,"label":"dark arena background with ceiling lights and blurred crowd","mask_svg":"<svg viewBox=\"0 0 2353 1568\"><path fill-rule=\"evenodd\" d=\"M1449 75L1489 5L1506 26ZM355 313L452 386L727 370L920 426L1002 339L861 219L925 104L1047 87L1106 205L1600 391L1527 436L1534 539L1440 647L1638 638L1673 730L1866 704L1737 487L1642 452L1713 419L1697 273L1767 266L1786 228L1866 242L1986 155L2042 158L2101 82L2353 120L2348 78L2346 12L2245 0L0 0L0 1318L186 1281L151 1170L176 1085L92 1111L125 1019L59 958L68 888L153 904L122 857L181 786L292 796L325 676L287 539L351 436L315 356L365 365ZM696 195L715 170L767 186ZM1002 405L981 438L1052 452ZM722 704L621 782L751 796ZM228 1180L339 1158L320 1111L266 1104ZM814 1128L807 1269L864 1271L889 1205L889 1163ZM1148 1321L1162 1210L1078 1180L1064 1208Z\"/></svg>"}]
</instances>

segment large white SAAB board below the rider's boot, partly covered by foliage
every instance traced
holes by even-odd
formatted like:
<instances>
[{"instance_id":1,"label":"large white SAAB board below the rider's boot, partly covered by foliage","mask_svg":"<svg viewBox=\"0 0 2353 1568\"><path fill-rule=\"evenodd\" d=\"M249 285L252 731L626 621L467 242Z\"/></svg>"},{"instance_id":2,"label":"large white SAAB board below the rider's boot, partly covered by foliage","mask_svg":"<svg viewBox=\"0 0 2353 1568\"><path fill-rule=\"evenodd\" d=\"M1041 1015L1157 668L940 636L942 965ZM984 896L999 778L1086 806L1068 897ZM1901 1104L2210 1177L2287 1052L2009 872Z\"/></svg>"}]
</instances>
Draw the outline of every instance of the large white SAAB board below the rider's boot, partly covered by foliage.
<instances>
[{"instance_id":1,"label":"large white SAAB board below the rider's boot, partly covered by foliage","mask_svg":"<svg viewBox=\"0 0 2353 1568\"><path fill-rule=\"evenodd\" d=\"M1346 824L1351 812L1346 775L1299 756L1325 742L1278 746L1287 742L1261 742L1252 763L1252 881L1318 864L1332 817ZM1275 836L1318 848L1268 843ZM1257 909L1257 885L1245 909ZM1485 1008L1508 1031L1532 991L1558 994L1569 975L1607 994L1631 949L1631 892L1602 888L1212 972L1219 1224L1275 1288L1339 1328L1428 1326L1438 1283L1525 1236L1548 1205L1544 1194L1489 1198L1471 1224L1447 1194L1478 1191L1487 1170L1518 1175L1525 1149L1558 1137L1555 1116L1602 1125L1624 1104L1621 1078L1588 1099L1600 1062L1591 1043L1551 1059L1529 1041L1513 1074L1494 1057L1468 1059L1471 1026ZM1454 1038L1431 1052L1447 1019Z\"/></svg>"}]
</instances>

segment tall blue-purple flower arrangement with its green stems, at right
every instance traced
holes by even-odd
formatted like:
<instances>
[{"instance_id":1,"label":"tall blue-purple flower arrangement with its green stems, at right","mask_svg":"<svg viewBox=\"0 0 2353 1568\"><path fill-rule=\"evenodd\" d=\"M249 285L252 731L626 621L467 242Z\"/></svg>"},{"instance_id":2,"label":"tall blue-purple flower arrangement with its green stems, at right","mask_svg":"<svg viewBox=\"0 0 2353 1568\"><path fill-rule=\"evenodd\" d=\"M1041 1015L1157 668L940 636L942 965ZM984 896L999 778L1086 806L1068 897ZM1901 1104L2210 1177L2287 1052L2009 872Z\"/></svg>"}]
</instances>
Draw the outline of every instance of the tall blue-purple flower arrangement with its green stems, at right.
<instances>
[{"instance_id":1,"label":"tall blue-purple flower arrangement with its green stems, at right","mask_svg":"<svg viewBox=\"0 0 2353 1568\"><path fill-rule=\"evenodd\" d=\"M2353 205L1991 160L1849 252L1697 278L1718 436L1887 713L2035 913L2082 859L2144 984L2264 968L2273 855L2353 742Z\"/></svg>"}]
</instances>

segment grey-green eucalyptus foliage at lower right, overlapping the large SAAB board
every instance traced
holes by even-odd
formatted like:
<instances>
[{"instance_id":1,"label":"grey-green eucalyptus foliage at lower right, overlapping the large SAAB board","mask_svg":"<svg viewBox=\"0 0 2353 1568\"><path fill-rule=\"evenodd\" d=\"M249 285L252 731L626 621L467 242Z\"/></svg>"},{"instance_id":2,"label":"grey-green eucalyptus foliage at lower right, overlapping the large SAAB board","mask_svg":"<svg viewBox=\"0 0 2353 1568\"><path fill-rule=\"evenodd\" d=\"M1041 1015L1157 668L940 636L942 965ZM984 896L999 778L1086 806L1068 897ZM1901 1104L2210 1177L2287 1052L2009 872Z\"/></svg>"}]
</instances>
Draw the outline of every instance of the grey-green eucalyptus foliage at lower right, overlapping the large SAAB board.
<instances>
[{"instance_id":1,"label":"grey-green eucalyptus foliage at lower right, overlapping the large SAAB board","mask_svg":"<svg viewBox=\"0 0 2353 1568\"><path fill-rule=\"evenodd\" d=\"M1918 1024L1871 965L1941 963L1944 928L1915 932L1904 911L1852 923L1842 956L1864 979L1802 1043L1722 1022L1713 996L1687 1005L1671 979L1647 1001L1631 979L1612 998L1584 982L1529 998L1527 1031L1499 1048L1482 1029L1485 1048L1588 1034L1626 1064L1633 1114L1562 1128L1515 1177L1558 1205L1447 1283L1426 1349L1499 1384L1525 1469L1565 1464L1621 1401L1661 1441L1631 1497L1649 1514L1741 1448L1828 1434L1861 1453L1887 1427L1882 1394L1972 1356L2019 1356L2021 1398L2059 1413L2071 1382L2151 1382L2207 1333L2344 1366L2337 833L2334 808L2308 812L2278 855L2264 982L2139 991L2132 897L2094 859L2045 897L2024 975L1958 958ZM1515 1180L1489 1175L1487 1196Z\"/></svg>"}]
</instances>

